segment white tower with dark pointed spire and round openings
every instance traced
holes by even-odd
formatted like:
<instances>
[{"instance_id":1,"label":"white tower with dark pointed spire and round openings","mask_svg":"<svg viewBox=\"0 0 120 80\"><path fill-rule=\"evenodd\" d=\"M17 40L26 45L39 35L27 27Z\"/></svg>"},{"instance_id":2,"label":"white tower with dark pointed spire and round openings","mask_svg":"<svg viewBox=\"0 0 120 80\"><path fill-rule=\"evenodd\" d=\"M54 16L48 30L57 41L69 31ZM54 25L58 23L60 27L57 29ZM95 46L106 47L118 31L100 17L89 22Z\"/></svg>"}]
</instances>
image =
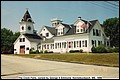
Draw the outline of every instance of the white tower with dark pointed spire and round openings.
<instances>
[{"instance_id":1,"label":"white tower with dark pointed spire and round openings","mask_svg":"<svg viewBox=\"0 0 120 80\"><path fill-rule=\"evenodd\" d=\"M20 33L21 34L34 34L34 22L28 12L28 9L26 10L23 18L19 22L20 24Z\"/></svg>"}]
</instances>

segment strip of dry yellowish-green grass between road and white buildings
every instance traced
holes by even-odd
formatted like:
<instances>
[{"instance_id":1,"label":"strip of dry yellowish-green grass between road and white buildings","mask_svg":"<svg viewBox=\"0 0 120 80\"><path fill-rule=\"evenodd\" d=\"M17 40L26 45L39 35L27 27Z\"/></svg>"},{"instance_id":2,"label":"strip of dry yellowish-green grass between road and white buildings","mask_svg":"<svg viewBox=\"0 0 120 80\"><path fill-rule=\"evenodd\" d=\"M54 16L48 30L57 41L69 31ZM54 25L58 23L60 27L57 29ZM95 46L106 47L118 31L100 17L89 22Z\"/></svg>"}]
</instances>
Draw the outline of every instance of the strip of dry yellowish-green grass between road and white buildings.
<instances>
[{"instance_id":1,"label":"strip of dry yellowish-green grass between road and white buildings","mask_svg":"<svg viewBox=\"0 0 120 80\"><path fill-rule=\"evenodd\" d=\"M12 54L27 58L119 67L119 53Z\"/></svg>"}]
</instances>

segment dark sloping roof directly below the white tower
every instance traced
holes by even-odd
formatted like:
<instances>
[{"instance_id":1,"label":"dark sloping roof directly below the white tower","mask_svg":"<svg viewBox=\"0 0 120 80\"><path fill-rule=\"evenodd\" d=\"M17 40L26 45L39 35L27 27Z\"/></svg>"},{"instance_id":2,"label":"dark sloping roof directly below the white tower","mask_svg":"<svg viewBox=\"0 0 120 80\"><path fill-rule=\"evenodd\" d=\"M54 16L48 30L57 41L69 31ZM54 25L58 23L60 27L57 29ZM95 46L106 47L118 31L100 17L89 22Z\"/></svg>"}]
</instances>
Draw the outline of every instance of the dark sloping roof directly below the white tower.
<instances>
[{"instance_id":1,"label":"dark sloping roof directly below the white tower","mask_svg":"<svg viewBox=\"0 0 120 80\"><path fill-rule=\"evenodd\" d=\"M23 34L31 42L40 42L42 38L37 34Z\"/></svg>"}]
</instances>

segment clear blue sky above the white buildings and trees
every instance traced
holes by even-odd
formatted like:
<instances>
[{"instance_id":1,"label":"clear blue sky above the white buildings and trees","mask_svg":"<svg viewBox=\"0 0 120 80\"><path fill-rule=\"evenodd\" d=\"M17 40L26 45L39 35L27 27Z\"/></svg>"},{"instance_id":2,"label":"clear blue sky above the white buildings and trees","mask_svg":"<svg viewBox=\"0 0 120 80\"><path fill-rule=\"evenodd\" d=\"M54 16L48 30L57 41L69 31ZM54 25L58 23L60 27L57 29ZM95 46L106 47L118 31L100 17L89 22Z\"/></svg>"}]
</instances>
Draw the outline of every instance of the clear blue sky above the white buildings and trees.
<instances>
[{"instance_id":1,"label":"clear blue sky above the white buildings and trees","mask_svg":"<svg viewBox=\"0 0 120 80\"><path fill-rule=\"evenodd\" d=\"M50 20L59 18L63 23L74 24L78 17L84 20L99 20L119 17L119 1L1 1L1 28L19 32L19 22L26 10L35 22L38 32L51 26Z\"/></svg>"}]
</instances>

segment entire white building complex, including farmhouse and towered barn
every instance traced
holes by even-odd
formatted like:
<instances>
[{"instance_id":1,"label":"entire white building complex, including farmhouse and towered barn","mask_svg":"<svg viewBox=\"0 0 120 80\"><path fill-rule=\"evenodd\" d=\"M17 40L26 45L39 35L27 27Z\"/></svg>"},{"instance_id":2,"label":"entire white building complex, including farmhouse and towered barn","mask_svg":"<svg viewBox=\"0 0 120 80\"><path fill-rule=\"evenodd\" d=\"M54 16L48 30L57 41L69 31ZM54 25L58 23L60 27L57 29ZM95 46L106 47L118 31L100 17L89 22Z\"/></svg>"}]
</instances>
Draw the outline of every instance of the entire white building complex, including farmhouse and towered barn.
<instances>
[{"instance_id":1,"label":"entire white building complex, including farmhouse and towered barn","mask_svg":"<svg viewBox=\"0 0 120 80\"><path fill-rule=\"evenodd\" d=\"M20 21L21 35L14 42L15 54L29 54L29 50L65 53L70 50L91 52L92 46L109 46L109 38L98 20L83 20L78 17L73 24L65 24L61 19L51 19L52 27L43 26L38 35L28 12Z\"/></svg>"}]
</instances>

